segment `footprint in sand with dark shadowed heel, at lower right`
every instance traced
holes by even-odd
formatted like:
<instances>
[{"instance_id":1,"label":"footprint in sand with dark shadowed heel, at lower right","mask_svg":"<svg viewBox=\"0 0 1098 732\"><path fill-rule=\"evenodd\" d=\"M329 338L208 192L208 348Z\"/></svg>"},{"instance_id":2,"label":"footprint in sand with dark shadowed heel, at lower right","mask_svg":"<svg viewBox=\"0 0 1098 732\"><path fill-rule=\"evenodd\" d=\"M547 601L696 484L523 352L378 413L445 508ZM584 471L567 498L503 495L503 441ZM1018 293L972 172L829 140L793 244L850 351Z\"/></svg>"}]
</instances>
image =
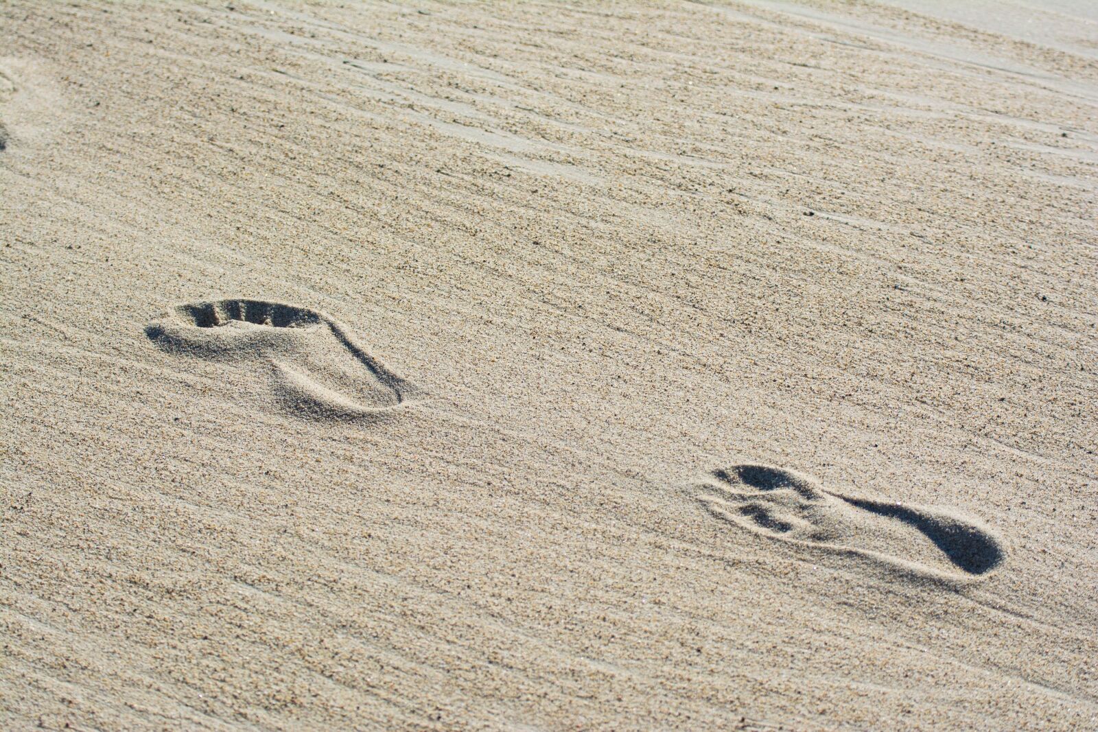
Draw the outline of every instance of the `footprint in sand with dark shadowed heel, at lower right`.
<instances>
[{"instance_id":1,"label":"footprint in sand with dark shadowed heel, at lower right","mask_svg":"<svg viewBox=\"0 0 1098 732\"><path fill-rule=\"evenodd\" d=\"M940 508L843 495L781 468L716 470L699 487L697 499L721 520L908 575L971 582L1006 560L1001 540L978 521Z\"/></svg>"}]
</instances>

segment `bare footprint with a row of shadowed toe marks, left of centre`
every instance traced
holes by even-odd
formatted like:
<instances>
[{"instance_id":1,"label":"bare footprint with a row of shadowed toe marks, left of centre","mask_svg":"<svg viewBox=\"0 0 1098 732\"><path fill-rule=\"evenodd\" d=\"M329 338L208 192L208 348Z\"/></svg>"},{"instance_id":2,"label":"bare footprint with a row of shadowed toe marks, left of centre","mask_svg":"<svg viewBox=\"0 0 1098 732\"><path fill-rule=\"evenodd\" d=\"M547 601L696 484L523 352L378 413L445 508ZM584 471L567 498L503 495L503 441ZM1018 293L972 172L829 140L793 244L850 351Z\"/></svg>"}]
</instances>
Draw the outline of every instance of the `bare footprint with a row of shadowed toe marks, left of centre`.
<instances>
[{"instance_id":1,"label":"bare footprint with a row of shadowed toe marks, left of centre","mask_svg":"<svg viewBox=\"0 0 1098 732\"><path fill-rule=\"evenodd\" d=\"M267 372L281 406L311 417L381 416L415 388L320 311L260 300L180 305L145 328L173 353Z\"/></svg>"}]
</instances>

